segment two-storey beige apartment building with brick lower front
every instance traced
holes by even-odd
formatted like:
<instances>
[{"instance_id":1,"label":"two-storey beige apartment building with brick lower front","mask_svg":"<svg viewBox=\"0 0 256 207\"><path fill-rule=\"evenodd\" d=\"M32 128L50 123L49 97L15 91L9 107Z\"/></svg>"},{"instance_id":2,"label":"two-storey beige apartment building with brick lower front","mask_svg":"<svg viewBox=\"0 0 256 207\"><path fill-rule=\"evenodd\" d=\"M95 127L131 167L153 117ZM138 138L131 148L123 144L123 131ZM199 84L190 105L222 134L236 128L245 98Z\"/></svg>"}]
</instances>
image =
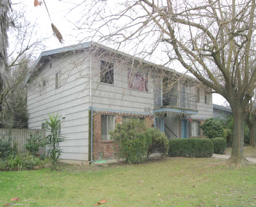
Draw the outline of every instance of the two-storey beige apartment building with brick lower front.
<instances>
[{"instance_id":1,"label":"two-storey beige apartment building with brick lower front","mask_svg":"<svg viewBox=\"0 0 256 207\"><path fill-rule=\"evenodd\" d=\"M200 136L200 122L212 117L212 96L197 79L93 42L42 52L34 68L28 127L58 113L66 162L113 157L108 131L127 119L143 119L171 139Z\"/></svg>"}]
</instances>

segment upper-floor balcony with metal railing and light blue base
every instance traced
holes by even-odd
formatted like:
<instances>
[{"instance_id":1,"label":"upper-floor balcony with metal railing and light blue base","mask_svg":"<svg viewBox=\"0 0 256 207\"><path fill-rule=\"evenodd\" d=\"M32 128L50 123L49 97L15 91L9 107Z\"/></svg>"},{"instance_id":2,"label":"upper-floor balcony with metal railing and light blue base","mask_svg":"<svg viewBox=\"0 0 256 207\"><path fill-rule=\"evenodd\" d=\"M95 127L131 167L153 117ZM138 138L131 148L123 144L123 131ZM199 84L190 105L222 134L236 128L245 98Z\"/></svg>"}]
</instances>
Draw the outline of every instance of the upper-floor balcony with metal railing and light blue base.
<instances>
[{"instance_id":1,"label":"upper-floor balcony with metal railing and light blue base","mask_svg":"<svg viewBox=\"0 0 256 207\"><path fill-rule=\"evenodd\" d=\"M163 93L161 90L155 91L155 112L173 111L180 113L197 114L197 96L185 91L171 90ZM163 98L162 98L163 97ZM169 110L167 110L169 108Z\"/></svg>"}]
</instances>

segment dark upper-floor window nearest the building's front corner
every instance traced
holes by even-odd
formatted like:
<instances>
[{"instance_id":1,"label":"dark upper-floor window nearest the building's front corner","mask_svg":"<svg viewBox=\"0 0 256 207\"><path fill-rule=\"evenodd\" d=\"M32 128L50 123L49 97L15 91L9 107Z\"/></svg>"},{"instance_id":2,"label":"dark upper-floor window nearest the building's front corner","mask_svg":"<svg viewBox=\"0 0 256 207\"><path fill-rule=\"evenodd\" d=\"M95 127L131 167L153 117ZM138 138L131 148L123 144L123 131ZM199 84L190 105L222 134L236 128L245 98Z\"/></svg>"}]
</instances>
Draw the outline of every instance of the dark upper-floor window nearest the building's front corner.
<instances>
[{"instance_id":1,"label":"dark upper-floor window nearest the building's front corner","mask_svg":"<svg viewBox=\"0 0 256 207\"><path fill-rule=\"evenodd\" d=\"M114 85L114 64L101 60L101 83Z\"/></svg>"}]
</instances>

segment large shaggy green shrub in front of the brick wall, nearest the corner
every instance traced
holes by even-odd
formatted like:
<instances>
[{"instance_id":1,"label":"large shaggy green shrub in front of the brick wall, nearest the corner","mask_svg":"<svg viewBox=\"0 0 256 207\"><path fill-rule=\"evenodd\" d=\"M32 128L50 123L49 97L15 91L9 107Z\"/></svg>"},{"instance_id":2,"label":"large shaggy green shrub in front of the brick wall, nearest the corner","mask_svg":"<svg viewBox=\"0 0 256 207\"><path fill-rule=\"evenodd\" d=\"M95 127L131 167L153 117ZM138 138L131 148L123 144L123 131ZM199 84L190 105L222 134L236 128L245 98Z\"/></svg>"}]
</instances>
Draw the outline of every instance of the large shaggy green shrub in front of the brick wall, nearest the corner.
<instances>
[{"instance_id":1,"label":"large shaggy green shrub in front of the brick wall, nearest the corner","mask_svg":"<svg viewBox=\"0 0 256 207\"><path fill-rule=\"evenodd\" d=\"M111 130L110 138L114 141L116 155L125 158L126 163L142 163L147 155L151 141L146 136L146 127L143 121L128 120L123 124L116 124Z\"/></svg>"}]
</instances>

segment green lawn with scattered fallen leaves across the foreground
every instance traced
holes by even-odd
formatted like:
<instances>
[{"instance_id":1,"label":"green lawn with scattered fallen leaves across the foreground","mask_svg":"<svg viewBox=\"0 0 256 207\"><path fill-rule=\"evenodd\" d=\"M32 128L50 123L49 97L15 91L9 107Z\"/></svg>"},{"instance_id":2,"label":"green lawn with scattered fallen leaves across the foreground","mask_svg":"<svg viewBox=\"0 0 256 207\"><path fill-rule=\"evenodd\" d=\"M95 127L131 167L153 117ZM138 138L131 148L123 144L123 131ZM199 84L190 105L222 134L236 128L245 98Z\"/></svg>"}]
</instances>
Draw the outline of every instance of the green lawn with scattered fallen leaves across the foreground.
<instances>
[{"instance_id":1,"label":"green lawn with scattered fallen leaves across the foreground","mask_svg":"<svg viewBox=\"0 0 256 207\"><path fill-rule=\"evenodd\" d=\"M256 166L233 168L216 158L173 157L140 165L58 171L0 172L0 206L19 197L25 207L254 207Z\"/></svg>"}]
</instances>

